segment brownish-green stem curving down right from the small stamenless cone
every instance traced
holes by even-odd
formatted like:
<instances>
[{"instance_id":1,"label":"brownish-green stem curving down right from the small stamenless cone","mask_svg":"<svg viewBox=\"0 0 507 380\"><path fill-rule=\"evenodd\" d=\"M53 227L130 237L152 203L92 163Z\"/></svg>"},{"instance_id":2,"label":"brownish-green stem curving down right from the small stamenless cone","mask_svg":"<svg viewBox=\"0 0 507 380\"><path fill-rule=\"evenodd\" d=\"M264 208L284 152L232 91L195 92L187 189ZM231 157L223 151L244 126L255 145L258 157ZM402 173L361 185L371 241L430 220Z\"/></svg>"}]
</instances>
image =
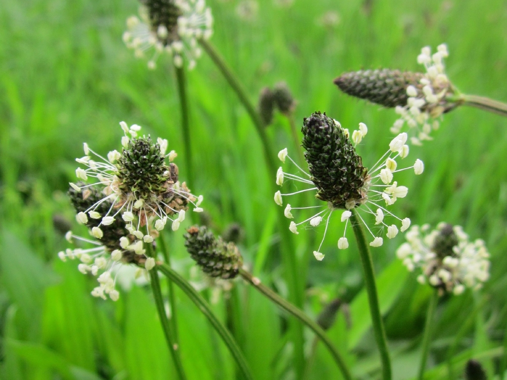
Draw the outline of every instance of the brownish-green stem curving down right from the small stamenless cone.
<instances>
[{"instance_id":1,"label":"brownish-green stem curving down right from the small stamenless cone","mask_svg":"<svg viewBox=\"0 0 507 380\"><path fill-rule=\"evenodd\" d=\"M317 334L317 336L320 339L322 339L324 345L328 348L331 355L333 355L333 358L335 359L336 364L340 368L340 371L342 372L343 377L347 380L352 379L352 375L350 374L350 371L348 370L347 365L345 364L345 361L343 360L340 353L333 345L332 341L325 334L325 331L322 330L322 328L319 325L317 325L313 320L311 320L300 309L298 309L297 307L292 305L291 302L288 302L287 300L283 299L278 294L276 294L274 291L272 291L270 288L268 288L266 285L262 284L261 280L259 280L258 278L253 277L250 273L246 272L243 269L239 270L239 274L241 277L243 277L243 279L245 279L247 282L249 282L253 287L255 287L262 294L264 294L266 297L268 297L273 302L275 302L280 308L282 308L286 312L292 314L294 317L296 317L302 323L304 323L306 326L308 326L315 334Z\"/></svg>"}]
</instances>

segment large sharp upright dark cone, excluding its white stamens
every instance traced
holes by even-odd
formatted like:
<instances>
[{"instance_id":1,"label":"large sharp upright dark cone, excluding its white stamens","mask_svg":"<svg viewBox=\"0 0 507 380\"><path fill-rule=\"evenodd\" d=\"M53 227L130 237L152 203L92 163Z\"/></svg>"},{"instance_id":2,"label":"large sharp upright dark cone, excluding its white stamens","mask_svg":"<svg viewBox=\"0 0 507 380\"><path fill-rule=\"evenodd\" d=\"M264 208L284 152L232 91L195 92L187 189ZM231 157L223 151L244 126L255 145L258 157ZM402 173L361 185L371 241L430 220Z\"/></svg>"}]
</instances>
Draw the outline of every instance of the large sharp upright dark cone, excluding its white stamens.
<instances>
[{"instance_id":1,"label":"large sharp upright dark cone, excluding its white stamens","mask_svg":"<svg viewBox=\"0 0 507 380\"><path fill-rule=\"evenodd\" d=\"M368 170L340 123L315 112L304 119L302 132L316 197L341 209L361 203L366 197Z\"/></svg>"}]
</instances>

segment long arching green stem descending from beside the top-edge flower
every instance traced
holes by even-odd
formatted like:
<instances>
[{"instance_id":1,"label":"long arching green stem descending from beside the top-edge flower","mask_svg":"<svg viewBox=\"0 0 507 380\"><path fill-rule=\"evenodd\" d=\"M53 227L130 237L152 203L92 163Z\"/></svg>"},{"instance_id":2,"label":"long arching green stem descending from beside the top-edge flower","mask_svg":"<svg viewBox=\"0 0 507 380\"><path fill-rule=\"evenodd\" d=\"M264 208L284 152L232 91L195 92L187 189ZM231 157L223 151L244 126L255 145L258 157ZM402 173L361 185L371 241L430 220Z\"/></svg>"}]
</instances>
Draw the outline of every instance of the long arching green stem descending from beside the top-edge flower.
<instances>
[{"instance_id":1,"label":"long arching green stem descending from beside the top-edge flower","mask_svg":"<svg viewBox=\"0 0 507 380\"><path fill-rule=\"evenodd\" d=\"M234 72L229 68L224 58L215 50L215 48L205 40L199 40L202 48L209 55L211 60L214 62L216 67L222 72L225 79L234 90L236 95L238 96L240 102L246 109L248 116L250 117L253 125L256 128L257 134L262 142L264 159L266 161L266 166L268 169L268 173L270 175L270 184L272 194L276 193L277 188L275 184L275 174L277 170L277 165L274 161L273 149L271 148L271 143L266 134L266 129L264 128L264 124L259 117L259 113L256 110L256 107L250 102L248 99L248 95L237 79ZM272 178L272 180L271 180ZM286 276L289 299L296 304L298 307L303 306L303 287L304 280L301 280L300 273L298 270L297 258L294 255L293 243L292 239L289 236L289 230L286 225L286 219L283 215L283 209L279 208L277 212L278 216L278 228L281 236L281 253L283 256L283 262L287 264L288 270L284 272ZM295 324L291 321L291 330L293 332L293 343L294 343L294 357L295 357L295 367L297 378L301 378L304 371L304 338L303 338L303 329L299 324Z\"/></svg>"}]
</instances>

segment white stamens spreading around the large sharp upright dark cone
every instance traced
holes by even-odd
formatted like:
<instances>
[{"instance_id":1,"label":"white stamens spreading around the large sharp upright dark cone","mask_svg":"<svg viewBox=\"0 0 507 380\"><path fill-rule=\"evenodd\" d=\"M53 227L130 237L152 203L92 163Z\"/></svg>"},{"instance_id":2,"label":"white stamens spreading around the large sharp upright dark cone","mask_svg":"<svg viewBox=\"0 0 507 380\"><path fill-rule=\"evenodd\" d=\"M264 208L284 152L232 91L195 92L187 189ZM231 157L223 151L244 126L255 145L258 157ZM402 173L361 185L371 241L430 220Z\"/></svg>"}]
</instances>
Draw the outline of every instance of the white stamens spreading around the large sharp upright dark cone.
<instances>
[{"instance_id":1,"label":"white stamens spreading around the large sharp upright dark cone","mask_svg":"<svg viewBox=\"0 0 507 380\"><path fill-rule=\"evenodd\" d=\"M340 127L341 128L341 127ZM349 137L348 130L344 129L345 134L347 137ZM352 133L352 141L357 144L359 143L363 137L367 134L368 128L365 124L360 123L359 129L353 131ZM387 206L390 206L396 202L398 198L404 198L407 195L408 188L406 186L400 186L397 184L396 181L393 180L393 174L413 169L414 173L416 175L419 175L424 170L424 165L421 160L417 159L414 163L414 165L398 169L397 168L397 162L396 159L404 159L407 157L409 153L409 146L406 144L407 141L407 134L401 133L397 135L395 138L392 139L392 141L389 144L389 150L377 161L377 163L369 170L369 177L367 183L365 183L364 187L361 189L361 192L364 194L363 198L358 200L350 200L347 202L346 209L341 212L341 221L345 222L345 229L343 232L343 236L338 240L338 248L339 249L346 249L348 248L348 240L345 237L347 226L348 226L348 220L350 216L352 215L351 209L355 208L356 206L363 206L358 207L358 211L366 212L367 214L372 214L375 217L375 224L379 225L381 227L381 230L384 230L384 227L387 228L387 234L386 236L389 239L394 238L397 233L399 232L398 227L396 224L386 224L384 222L384 217L392 217L394 219L397 219L400 222L400 230L404 232L408 229L410 226L410 219L404 218L401 219L394 215L392 212L387 210ZM285 159L288 158L298 169L301 173L304 173L305 177L301 177L299 175L287 173L283 171L283 169L280 167L276 174L276 183L278 185L282 185L284 180L294 180L297 182L302 182L307 185L311 185L312 187L303 189L300 191L296 191L294 193L289 194L281 194L279 191L275 193L274 200L276 204L279 206L282 206L283 201L282 197L291 196L307 191L316 191L317 187L314 186L313 181L311 180L311 175L307 174L301 167L299 167L291 157L287 155L287 148L280 150L278 153L278 158L281 162L285 163ZM330 217L333 214L334 211L337 211L337 208L334 208L331 202L328 202L326 205L320 205L320 206L309 206L309 207L292 207L290 204L287 204L285 206L284 214L287 218L292 219L294 218L292 214L292 210L302 210L302 209L311 209L311 208L321 208L319 212L312 215L311 217L296 223L294 221L291 221L289 230L293 232L294 234L299 234L298 232L298 226L301 224L309 223L310 226L315 227L319 225L324 219L325 219L325 229L324 229L324 236L322 237L322 241L319 245L319 248L313 252L315 255L315 258L317 260L322 260L324 255L320 252L320 248L322 246L322 243L325 238L325 234L328 230L328 225L330 221ZM374 234L371 229L368 227L368 224L365 222L363 217L361 217L360 213L357 212L356 215L359 217L361 221L366 226L366 229L370 233L370 235L373 237L373 241L370 242L370 246L372 247L379 247L383 244L383 239L381 236L378 236Z\"/></svg>"}]
</instances>

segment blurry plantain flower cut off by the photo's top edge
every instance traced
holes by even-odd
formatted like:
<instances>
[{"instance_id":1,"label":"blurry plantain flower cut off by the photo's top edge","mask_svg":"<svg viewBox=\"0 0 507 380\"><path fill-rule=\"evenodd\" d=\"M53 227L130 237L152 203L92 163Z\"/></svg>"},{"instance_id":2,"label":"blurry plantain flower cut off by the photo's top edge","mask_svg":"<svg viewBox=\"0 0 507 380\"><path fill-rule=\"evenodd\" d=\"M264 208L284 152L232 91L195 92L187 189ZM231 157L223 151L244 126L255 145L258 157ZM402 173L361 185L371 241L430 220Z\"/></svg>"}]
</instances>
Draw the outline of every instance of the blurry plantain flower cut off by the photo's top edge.
<instances>
[{"instance_id":1,"label":"blurry plantain flower cut off by the photo's top edge","mask_svg":"<svg viewBox=\"0 0 507 380\"><path fill-rule=\"evenodd\" d=\"M127 19L123 41L136 57L153 50L148 67L154 69L158 57L172 56L174 65L182 67L188 61L191 70L201 50L199 39L207 40L213 33L211 9L204 0L142 0L139 17Z\"/></svg>"}]
</instances>

